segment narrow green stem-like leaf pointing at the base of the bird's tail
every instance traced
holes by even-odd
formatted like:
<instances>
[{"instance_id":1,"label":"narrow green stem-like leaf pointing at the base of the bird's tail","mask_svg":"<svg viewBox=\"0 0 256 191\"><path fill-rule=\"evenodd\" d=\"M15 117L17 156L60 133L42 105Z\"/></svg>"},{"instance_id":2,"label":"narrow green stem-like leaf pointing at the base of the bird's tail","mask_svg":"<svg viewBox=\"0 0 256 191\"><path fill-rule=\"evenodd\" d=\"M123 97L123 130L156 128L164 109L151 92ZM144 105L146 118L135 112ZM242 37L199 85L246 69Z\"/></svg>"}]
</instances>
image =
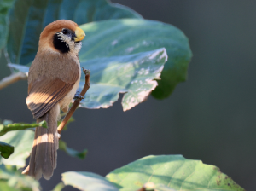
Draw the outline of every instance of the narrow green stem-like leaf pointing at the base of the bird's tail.
<instances>
[{"instance_id":1,"label":"narrow green stem-like leaf pointing at the base of the bird's tail","mask_svg":"<svg viewBox=\"0 0 256 191\"><path fill-rule=\"evenodd\" d=\"M47 124L45 121L42 121L40 123L33 123L33 124L7 124L3 125L0 124L0 136L5 135L7 132L12 130L26 130L33 127L44 127L47 128Z\"/></svg>"}]
</instances>

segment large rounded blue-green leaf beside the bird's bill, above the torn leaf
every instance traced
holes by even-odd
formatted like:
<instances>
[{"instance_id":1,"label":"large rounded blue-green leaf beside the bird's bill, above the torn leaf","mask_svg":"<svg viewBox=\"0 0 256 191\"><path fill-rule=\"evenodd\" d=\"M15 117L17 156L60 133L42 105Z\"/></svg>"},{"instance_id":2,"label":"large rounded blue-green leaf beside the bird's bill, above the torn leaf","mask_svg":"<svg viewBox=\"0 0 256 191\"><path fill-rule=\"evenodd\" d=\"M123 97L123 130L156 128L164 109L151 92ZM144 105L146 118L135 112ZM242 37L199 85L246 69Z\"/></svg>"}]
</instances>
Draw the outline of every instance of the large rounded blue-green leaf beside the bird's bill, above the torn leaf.
<instances>
[{"instance_id":1,"label":"large rounded blue-green leaf beside the bird's bill, above the torn leaf","mask_svg":"<svg viewBox=\"0 0 256 191\"><path fill-rule=\"evenodd\" d=\"M93 22L81 28L86 33L79 52L82 61L165 47L168 61L153 92L156 98L169 96L187 78L192 53L188 38L175 26L153 20L124 19Z\"/></svg>"}]
</instances>

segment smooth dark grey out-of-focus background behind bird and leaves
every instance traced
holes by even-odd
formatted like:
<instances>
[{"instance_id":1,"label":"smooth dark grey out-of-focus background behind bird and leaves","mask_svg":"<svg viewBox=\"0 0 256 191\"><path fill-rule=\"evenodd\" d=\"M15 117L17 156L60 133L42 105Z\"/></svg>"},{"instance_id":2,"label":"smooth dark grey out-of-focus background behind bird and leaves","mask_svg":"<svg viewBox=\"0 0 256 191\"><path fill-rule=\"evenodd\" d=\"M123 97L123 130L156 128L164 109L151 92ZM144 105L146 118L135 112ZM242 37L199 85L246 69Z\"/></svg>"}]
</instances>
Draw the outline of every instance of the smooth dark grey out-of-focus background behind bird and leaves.
<instances>
[{"instance_id":1,"label":"smooth dark grey out-of-focus background behind bird and leaves","mask_svg":"<svg viewBox=\"0 0 256 191\"><path fill-rule=\"evenodd\" d=\"M114 0L145 19L180 28L194 54L188 81L172 96L123 112L80 108L62 133L69 147L88 148L84 160L58 152L58 166L44 191L61 182L65 171L102 176L149 154L183 154L216 165L241 187L256 190L256 1ZM86 40L84 40L86 43ZM89 68L90 69L90 68ZM1 59L0 78L9 74ZM0 91L0 117L32 122L26 108L26 81ZM76 190L67 187L64 190Z\"/></svg>"}]
</instances>

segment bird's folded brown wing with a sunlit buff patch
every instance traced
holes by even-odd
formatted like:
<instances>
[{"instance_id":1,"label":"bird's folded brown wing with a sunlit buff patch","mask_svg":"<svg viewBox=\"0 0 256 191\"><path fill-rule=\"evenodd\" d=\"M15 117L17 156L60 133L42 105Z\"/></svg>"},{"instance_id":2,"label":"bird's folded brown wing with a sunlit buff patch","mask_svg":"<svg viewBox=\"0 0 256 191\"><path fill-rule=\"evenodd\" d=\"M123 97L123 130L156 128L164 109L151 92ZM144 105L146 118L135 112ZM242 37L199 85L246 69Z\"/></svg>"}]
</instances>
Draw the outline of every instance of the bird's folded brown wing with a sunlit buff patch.
<instances>
[{"instance_id":1,"label":"bird's folded brown wing with a sunlit buff patch","mask_svg":"<svg viewBox=\"0 0 256 191\"><path fill-rule=\"evenodd\" d=\"M73 85L63 82L60 78L49 79L45 77L30 83L26 104L32 111L34 118L38 119L47 113L72 90Z\"/></svg>"}]
</instances>

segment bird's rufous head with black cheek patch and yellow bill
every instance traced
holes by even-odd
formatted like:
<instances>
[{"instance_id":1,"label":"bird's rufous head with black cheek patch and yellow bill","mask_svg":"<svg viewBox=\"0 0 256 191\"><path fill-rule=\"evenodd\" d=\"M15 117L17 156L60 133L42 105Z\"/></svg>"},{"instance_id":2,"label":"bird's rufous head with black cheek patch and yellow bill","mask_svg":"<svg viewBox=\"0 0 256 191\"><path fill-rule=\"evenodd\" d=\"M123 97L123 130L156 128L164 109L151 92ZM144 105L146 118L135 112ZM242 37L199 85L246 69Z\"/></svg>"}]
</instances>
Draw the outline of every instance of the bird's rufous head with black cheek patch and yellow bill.
<instances>
[{"instance_id":1,"label":"bird's rufous head with black cheek patch and yellow bill","mask_svg":"<svg viewBox=\"0 0 256 191\"><path fill-rule=\"evenodd\" d=\"M71 20L56 20L44 28L40 35L38 50L49 50L61 54L79 53L84 31Z\"/></svg>"}]
</instances>

